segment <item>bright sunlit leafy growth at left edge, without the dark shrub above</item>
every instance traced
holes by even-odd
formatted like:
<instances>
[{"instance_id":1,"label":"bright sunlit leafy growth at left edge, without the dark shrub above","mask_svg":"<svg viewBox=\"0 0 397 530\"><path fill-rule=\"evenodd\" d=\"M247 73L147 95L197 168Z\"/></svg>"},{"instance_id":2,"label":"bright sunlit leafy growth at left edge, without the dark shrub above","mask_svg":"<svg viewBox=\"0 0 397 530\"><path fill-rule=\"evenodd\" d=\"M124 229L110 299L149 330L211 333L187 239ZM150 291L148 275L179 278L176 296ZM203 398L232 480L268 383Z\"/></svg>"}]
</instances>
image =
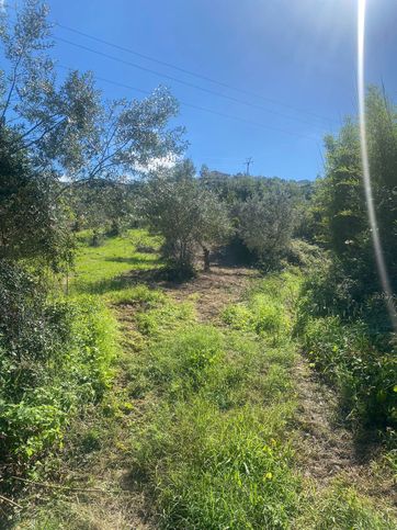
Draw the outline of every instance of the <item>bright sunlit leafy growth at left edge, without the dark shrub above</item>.
<instances>
[{"instance_id":1,"label":"bright sunlit leafy growth at left edge, without the dark shrub above","mask_svg":"<svg viewBox=\"0 0 397 530\"><path fill-rule=\"evenodd\" d=\"M0 351L1 454L3 462L20 466L61 443L79 407L101 398L117 350L117 324L97 300L58 301L46 312L53 319L56 313L57 325L47 337L56 348L43 345L39 351L24 351L19 361Z\"/></svg>"}]
</instances>

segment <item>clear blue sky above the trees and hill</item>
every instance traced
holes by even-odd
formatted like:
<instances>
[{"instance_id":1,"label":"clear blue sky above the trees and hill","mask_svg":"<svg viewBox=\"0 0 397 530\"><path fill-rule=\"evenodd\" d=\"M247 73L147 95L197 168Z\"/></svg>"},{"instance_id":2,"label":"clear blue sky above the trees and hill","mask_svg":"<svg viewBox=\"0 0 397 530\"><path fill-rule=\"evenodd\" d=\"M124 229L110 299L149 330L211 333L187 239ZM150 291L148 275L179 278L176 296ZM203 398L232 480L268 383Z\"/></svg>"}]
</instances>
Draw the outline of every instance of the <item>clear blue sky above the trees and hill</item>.
<instances>
[{"instance_id":1,"label":"clear blue sky above the trees and hill","mask_svg":"<svg viewBox=\"0 0 397 530\"><path fill-rule=\"evenodd\" d=\"M397 2L367 0L367 82L397 92ZM106 59L56 41L60 64L154 90L170 87L181 105L188 155L200 168L314 179L322 170L322 137L355 113L356 0L49 0L61 24L218 80L211 83L90 41L61 27L55 35L115 55L239 101ZM141 98L99 81L109 98ZM249 104L243 104L248 102ZM252 106L253 105L253 106ZM237 120L238 119L238 120Z\"/></svg>"}]
</instances>

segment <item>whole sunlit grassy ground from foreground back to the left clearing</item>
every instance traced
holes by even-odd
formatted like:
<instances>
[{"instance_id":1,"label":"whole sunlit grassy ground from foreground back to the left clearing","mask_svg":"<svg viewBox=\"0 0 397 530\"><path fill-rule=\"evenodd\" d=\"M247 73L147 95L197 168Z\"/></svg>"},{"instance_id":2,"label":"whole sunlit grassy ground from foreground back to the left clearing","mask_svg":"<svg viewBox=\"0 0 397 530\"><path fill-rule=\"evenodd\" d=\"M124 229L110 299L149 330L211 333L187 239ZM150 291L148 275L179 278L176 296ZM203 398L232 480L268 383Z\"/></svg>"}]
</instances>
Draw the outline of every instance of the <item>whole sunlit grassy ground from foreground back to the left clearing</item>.
<instances>
[{"instance_id":1,"label":"whole sunlit grassy ground from foreground back to the left clearing","mask_svg":"<svg viewBox=\"0 0 397 530\"><path fill-rule=\"evenodd\" d=\"M48 464L48 480L70 489L27 488L18 528L397 528L388 498L344 470L319 482L302 465L298 271L247 280L238 302L231 293L204 318L200 280L181 297L128 279L161 264L158 240L143 230L100 247L87 238L70 292L112 307L123 353L103 401Z\"/></svg>"}]
</instances>

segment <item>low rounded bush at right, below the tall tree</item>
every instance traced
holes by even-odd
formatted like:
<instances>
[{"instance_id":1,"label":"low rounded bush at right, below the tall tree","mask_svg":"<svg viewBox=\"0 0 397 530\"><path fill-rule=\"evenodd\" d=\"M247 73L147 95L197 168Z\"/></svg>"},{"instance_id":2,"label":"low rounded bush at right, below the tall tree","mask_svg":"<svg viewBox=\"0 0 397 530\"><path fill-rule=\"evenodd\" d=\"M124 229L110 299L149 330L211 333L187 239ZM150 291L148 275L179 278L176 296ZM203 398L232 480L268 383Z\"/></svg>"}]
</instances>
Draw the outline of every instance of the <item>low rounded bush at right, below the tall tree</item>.
<instances>
[{"instance_id":1,"label":"low rounded bush at right, below the tall tree","mask_svg":"<svg viewBox=\"0 0 397 530\"><path fill-rule=\"evenodd\" d=\"M344 415L395 428L397 359L385 305L359 292L336 261L317 266L303 284L295 332L314 368L337 386Z\"/></svg>"}]
</instances>

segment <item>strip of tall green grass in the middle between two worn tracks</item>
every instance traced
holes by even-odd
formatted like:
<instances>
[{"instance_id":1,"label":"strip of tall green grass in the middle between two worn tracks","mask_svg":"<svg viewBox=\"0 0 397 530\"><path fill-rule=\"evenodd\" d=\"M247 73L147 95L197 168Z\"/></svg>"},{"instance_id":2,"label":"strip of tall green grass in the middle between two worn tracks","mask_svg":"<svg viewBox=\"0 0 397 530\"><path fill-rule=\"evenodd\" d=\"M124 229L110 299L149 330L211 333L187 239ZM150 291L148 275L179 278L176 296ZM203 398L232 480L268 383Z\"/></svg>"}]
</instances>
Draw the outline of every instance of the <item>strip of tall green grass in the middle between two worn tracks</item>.
<instances>
[{"instance_id":1,"label":"strip of tall green grass in the middle between two worn tracks","mask_svg":"<svg viewBox=\"0 0 397 530\"><path fill-rule=\"evenodd\" d=\"M249 305L270 334L260 291ZM285 528L300 487L283 440L295 409L294 349L286 334L268 346L259 326L241 336L193 317L146 329L147 347L129 368L132 394L150 402L131 440L133 472L145 476L166 528Z\"/></svg>"}]
</instances>

